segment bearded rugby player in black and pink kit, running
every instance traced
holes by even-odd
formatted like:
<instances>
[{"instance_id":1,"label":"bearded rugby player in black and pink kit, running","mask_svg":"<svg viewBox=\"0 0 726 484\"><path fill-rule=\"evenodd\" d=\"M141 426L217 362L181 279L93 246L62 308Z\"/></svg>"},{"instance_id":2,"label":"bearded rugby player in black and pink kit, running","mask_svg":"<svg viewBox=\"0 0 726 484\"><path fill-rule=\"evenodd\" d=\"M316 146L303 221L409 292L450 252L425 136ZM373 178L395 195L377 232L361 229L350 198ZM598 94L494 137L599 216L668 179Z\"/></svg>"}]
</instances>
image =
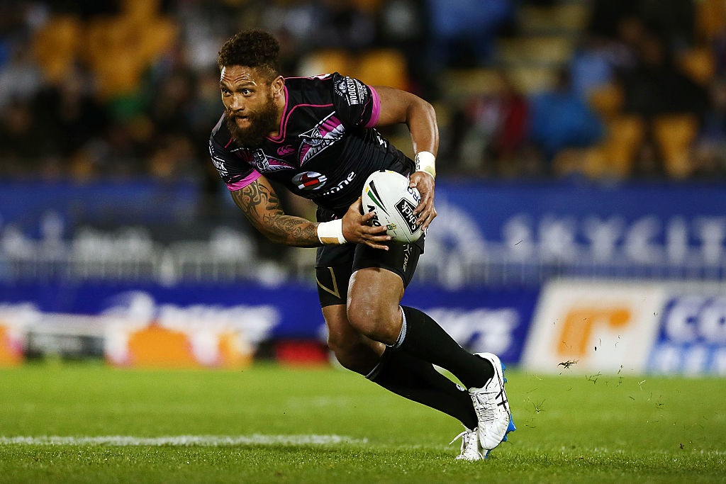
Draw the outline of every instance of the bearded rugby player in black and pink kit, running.
<instances>
[{"instance_id":1,"label":"bearded rugby player in black and pink kit, running","mask_svg":"<svg viewBox=\"0 0 726 484\"><path fill-rule=\"evenodd\" d=\"M439 145L433 107L339 73L284 78L279 52L274 36L254 29L221 46L224 114L209 138L213 164L235 204L270 241L317 247L318 295L340 364L458 419L465 431L457 459L482 459L515 430L502 364L492 353L469 353L431 317L400 305L425 237L394 244L384 227L368 224L374 213L361 215L367 177L396 171L420 191L417 222L428 229L436 217ZM376 130L394 123L407 125L415 160ZM270 180L315 202L317 223L287 215Z\"/></svg>"}]
</instances>

